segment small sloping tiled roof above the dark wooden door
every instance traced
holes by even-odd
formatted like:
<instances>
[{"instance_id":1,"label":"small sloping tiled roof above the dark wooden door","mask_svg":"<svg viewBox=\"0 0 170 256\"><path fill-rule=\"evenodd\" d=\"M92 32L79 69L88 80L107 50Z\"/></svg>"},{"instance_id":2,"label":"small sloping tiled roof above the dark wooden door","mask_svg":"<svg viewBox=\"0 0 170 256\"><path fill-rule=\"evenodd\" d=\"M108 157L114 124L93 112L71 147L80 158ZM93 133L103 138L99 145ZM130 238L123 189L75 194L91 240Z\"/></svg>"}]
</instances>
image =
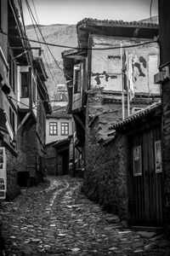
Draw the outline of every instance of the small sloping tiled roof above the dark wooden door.
<instances>
[{"instance_id":1,"label":"small sloping tiled roof above the dark wooden door","mask_svg":"<svg viewBox=\"0 0 170 256\"><path fill-rule=\"evenodd\" d=\"M156 111L156 109L158 109L158 108L161 108L161 102L156 102L156 103L150 105L149 107L144 108L144 110L139 111L138 113L129 116L127 119L124 119L121 122L116 123L115 125L111 125L109 127L109 130L116 130L116 129L121 128L124 125L128 125L128 124L132 123L134 120L138 120L138 119L144 117L145 115Z\"/></svg>"}]
</instances>

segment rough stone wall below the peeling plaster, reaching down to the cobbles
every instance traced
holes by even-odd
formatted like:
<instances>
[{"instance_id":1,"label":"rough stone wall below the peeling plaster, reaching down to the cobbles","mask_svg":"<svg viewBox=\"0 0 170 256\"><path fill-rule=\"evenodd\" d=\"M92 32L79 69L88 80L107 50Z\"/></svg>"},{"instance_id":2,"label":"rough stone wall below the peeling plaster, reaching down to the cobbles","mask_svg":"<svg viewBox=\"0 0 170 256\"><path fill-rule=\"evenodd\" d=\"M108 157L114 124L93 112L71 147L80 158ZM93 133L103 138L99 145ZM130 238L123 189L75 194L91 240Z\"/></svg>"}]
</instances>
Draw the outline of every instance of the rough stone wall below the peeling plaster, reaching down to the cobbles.
<instances>
[{"instance_id":1,"label":"rough stone wall below the peeling plaster, reaching down to the cobbles","mask_svg":"<svg viewBox=\"0 0 170 256\"><path fill-rule=\"evenodd\" d=\"M101 90L88 95L84 191L88 197L127 219L127 139L105 144L109 127L122 118L122 104L104 102Z\"/></svg>"}]
</instances>

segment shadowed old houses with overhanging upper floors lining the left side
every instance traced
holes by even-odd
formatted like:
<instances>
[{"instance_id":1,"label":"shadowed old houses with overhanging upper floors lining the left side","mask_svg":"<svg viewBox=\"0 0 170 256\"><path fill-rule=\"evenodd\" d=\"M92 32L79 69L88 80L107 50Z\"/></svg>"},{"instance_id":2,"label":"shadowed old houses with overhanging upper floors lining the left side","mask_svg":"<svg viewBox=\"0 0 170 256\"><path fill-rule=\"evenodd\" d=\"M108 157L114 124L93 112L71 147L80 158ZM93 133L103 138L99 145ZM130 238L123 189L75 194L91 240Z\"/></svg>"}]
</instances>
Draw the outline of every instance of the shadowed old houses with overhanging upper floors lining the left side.
<instances>
[{"instance_id":1,"label":"shadowed old houses with overhanging upper floors lining the left side","mask_svg":"<svg viewBox=\"0 0 170 256\"><path fill-rule=\"evenodd\" d=\"M42 59L34 58L14 1L1 1L1 198L42 177L45 116L50 113ZM5 183L5 184L3 184Z\"/></svg>"}]
</instances>

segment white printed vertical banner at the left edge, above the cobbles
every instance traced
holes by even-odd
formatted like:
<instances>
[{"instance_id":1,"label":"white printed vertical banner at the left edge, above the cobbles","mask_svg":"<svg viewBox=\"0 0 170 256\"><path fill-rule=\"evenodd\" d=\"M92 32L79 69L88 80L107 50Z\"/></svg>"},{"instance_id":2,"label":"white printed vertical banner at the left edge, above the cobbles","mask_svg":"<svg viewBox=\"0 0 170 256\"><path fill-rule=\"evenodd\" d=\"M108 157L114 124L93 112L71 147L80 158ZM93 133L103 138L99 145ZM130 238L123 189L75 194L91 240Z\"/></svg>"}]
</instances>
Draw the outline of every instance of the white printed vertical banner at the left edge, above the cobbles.
<instances>
[{"instance_id":1,"label":"white printed vertical banner at the left edge, above the cobbles","mask_svg":"<svg viewBox=\"0 0 170 256\"><path fill-rule=\"evenodd\" d=\"M7 159L4 147L0 147L0 199L6 198L7 191Z\"/></svg>"}]
</instances>

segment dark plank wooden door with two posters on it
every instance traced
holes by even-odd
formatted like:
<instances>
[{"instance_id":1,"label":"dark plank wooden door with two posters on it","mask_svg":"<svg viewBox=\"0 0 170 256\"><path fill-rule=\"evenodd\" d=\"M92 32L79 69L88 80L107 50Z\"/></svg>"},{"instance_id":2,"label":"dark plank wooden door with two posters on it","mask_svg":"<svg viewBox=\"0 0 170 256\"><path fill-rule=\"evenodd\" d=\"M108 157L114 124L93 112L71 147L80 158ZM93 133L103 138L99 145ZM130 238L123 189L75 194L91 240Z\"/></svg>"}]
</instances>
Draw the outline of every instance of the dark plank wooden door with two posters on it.
<instances>
[{"instance_id":1,"label":"dark plank wooden door with two posters on it","mask_svg":"<svg viewBox=\"0 0 170 256\"><path fill-rule=\"evenodd\" d=\"M160 165L160 126L129 137L129 145L130 168L127 176L129 223L161 226L163 172Z\"/></svg>"}]
</instances>

